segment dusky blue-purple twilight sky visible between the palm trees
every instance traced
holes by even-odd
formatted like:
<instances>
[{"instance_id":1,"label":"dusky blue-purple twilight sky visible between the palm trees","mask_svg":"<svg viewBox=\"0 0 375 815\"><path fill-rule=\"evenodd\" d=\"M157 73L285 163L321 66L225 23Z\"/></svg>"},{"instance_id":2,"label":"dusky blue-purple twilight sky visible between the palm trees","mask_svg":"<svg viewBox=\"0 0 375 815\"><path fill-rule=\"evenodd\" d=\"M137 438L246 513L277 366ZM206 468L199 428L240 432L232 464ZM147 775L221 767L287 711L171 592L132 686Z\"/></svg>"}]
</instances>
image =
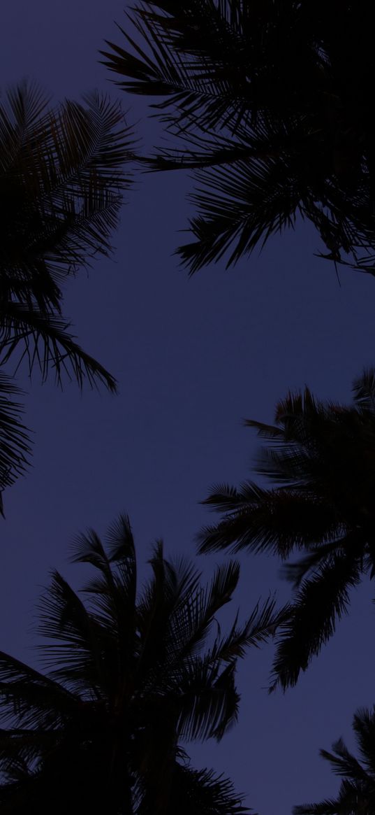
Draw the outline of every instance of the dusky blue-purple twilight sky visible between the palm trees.
<instances>
[{"instance_id":1,"label":"dusky blue-purple twilight sky visible between the palm trees","mask_svg":"<svg viewBox=\"0 0 375 815\"><path fill-rule=\"evenodd\" d=\"M28 76L55 99L99 87L116 95L98 64L105 38L119 41L124 0L12 0L2 11L1 85ZM152 141L144 106L125 98L129 121ZM5 495L0 569L0 648L26 661L33 606L48 571L77 586L66 562L76 532L104 533L129 513L142 562L155 538L191 553L209 521L198 505L212 482L248 477L256 439L247 416L273 420L288 389L309 385L321 398L350 399L351 380L375 359L375 280L314 258L317 236L300 227L238 267L222 265L188 280L173 250L187 223L182 175L137 178L123 209L116 252L67 287L64 313L81 344L117 377L120 396L76 385L63 393L20 375L26 424L35 434L33 469ZM201 557L205 575L220 556ZM224 619L242 617L259 595L288 586L279 564L243 555L240 590ZM356 707L371 705L374 608L364 584L351 615L295 689L269 697L272 646L240 668L240 720L219 746L188 747L197 766L231 778L260 815L289 815L293 804L334 795L337 780L318 756L342 735L351 740Z\"/></svg>"}]
</instances>

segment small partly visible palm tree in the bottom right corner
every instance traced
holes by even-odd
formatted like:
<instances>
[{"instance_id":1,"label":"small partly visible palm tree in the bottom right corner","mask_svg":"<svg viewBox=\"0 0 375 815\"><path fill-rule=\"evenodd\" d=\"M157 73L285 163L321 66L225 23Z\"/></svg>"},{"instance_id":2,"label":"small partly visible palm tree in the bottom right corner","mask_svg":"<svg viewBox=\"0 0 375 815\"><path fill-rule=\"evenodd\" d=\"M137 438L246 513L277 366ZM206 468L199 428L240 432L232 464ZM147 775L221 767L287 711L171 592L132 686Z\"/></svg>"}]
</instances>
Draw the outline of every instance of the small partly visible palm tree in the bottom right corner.
<instances>
[{"instance_id":1,"label":"small partly visible palm tree in the bottom right corner","mask_svg":"<svg viewBox=\"0 0 375 815\"><path fill-rule=\"evenodd\" d=\"M373 815L375 808L375 711L366 708L355 713L355 738L360 760L347 749L342 738L334 742L332 753L320 750L336 775L342 778L337 798L320 804L294 807L294 815Z\"/></svg>"}]
</instances>

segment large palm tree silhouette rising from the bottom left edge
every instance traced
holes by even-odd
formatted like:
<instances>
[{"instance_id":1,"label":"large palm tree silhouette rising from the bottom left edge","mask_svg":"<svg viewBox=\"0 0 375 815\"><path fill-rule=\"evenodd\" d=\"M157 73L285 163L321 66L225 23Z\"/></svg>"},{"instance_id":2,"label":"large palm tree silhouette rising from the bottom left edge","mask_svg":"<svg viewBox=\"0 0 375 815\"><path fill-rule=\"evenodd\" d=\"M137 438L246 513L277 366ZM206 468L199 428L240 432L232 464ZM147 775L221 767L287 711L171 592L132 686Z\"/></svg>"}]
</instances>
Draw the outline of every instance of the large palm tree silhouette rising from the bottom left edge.
<instances>
[{"instance_id":1,"label":"large palm tree silhouette rising from the bottom left edge","mask_svg":"<svg viewBox=\"0 0 375 815\"><path fill-rule=\"evenodd\" d=\"M238 583L238 563L203 588L190 563L156 544L152 578L137 593L129 518L94 531L73 560L94 570L84 602L58 572L42 598L45 671L0 653L4 813L238 815L228 780L190 768L181 742L220 739L238 715L238 659L281 623L273 600L221 634L216 614ZM215 634L216 630L216 634ZM178 802L178 806L177 806ZM8 807L8 809L6 808ZM210 808L211 807L211 808Z\"/></svg>"}]
</instances>

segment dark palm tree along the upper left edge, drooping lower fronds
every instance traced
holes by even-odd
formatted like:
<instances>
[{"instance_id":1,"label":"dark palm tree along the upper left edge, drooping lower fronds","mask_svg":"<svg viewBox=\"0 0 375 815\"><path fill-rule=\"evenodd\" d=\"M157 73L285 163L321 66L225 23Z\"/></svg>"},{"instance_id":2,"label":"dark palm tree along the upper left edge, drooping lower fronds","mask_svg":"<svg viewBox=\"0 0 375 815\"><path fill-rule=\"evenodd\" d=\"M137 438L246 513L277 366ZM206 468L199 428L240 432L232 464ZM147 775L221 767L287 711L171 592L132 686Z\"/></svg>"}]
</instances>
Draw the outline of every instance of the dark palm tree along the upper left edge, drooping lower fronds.
<instances>
[{"instance_id":1,"label":"dark palm tree along the upper left edge, drooping lower fronds","mask_svg":"<svg viewBox=\"0 0 375 815\"><path fill-rule=\"evenodd\" d=\"M0 366L26 359L30 376L38 367L43 380L67 374L115 391L115 378L69 332L62 286L111 250L131 131L120 105L98 94L56 108L48 101L23 83L0 102ZM0 373L0 512L30 452L16 393Z\"/></svg>"}]
</instances>

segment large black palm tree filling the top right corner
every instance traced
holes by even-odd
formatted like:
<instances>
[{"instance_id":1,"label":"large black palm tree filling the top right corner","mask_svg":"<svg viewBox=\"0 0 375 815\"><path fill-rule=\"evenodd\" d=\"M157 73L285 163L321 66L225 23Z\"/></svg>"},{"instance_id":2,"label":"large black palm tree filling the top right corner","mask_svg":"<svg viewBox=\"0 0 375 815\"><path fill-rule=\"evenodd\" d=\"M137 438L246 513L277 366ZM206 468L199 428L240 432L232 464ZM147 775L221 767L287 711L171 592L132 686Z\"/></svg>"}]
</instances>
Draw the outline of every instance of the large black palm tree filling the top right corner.
<instances>
[{"instance_id":1,"label":"large black palm tree filling the top right corner","mask_svg":"<svg viewBox=\"0 0 375 815\"><path fill-rule=\"evenodd\" d=\"M322 257L373 273L371 14L365 0L146 0L107 41L117 84L155 100L170 137L151 169L195 171L190 272L299 217Z\"/></svg>"}]
</instances>

